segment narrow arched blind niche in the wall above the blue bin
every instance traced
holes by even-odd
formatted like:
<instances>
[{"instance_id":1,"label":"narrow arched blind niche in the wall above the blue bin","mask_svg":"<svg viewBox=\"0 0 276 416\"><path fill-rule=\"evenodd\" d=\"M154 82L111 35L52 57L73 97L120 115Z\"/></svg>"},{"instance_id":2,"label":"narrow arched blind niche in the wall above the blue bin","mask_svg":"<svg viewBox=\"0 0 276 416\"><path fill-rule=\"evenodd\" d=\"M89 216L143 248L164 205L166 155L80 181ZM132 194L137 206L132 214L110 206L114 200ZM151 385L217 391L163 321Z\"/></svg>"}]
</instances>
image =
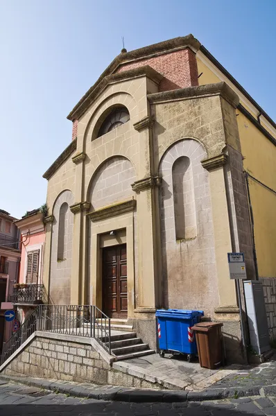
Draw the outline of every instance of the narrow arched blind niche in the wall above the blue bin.
<instances>
[{"instance_id":1,"label":"narrow arched blind niche in the wall above the blue bin","mask_svg":"<svg viewBox=\"0 0 276 416\"><path fill-rule=\"evenodd\" d=\"M173 205L176 239L193 239L196 237L196 206L193 171L187 156L178 157L173 164Z\"/></svg>"}]
</instances>

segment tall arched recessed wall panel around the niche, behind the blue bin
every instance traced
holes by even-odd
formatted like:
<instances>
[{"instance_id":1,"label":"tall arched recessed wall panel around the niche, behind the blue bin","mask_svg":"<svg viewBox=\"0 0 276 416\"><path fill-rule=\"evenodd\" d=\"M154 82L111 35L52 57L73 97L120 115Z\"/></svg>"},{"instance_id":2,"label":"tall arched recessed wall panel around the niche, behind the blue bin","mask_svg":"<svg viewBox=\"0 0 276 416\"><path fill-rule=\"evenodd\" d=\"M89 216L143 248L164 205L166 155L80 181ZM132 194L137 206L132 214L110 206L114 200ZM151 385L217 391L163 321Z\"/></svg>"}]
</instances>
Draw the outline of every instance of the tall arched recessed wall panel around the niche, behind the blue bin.
<instances>
[{"instance_id":1,"label":"tall arched recessed wall panel around the niche, behind the blue bin","mask_svg":"<svg viewBox=\"0 0 276 416\"><path fill-rule=\"evenodd\" d=\"M178 239L172 169L175 161L183 156L189 157L191 164L187 189L193 196L184 193L188 198L185 203L182 201L182 205L189 215L185 223L183 218L182 221L186 229L194 227L196 233L191 238ZM218 304L218 286L209 175L201 164L205 157L205 149L198 141L185 139L171 146L160 163L163 306L203 309L205 315L212 317Z\"/></svg>"}]
</instances>

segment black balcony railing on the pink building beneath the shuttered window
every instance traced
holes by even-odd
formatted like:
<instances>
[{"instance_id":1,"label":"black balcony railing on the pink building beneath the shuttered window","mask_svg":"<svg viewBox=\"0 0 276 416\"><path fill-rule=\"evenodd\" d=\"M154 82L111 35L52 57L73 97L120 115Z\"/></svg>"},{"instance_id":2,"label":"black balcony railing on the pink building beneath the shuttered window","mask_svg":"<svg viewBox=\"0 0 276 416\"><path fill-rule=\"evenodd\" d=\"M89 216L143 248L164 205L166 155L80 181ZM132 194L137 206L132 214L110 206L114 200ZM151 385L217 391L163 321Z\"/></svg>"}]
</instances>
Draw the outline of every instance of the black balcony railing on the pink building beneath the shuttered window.
<instances>
[{"instance_id":1,"label":"black balcony railing on the pink building beneath the shuttered window","mask_svg":"<svg viewBox=\"0 0 276 416\"><path fill-rule=\"evenodd\" d=\"M15 287L13 288L9 301L13 304L43 304L46 301L44 285L26 284L21 287Z\"/></svg>"}]
</instances>

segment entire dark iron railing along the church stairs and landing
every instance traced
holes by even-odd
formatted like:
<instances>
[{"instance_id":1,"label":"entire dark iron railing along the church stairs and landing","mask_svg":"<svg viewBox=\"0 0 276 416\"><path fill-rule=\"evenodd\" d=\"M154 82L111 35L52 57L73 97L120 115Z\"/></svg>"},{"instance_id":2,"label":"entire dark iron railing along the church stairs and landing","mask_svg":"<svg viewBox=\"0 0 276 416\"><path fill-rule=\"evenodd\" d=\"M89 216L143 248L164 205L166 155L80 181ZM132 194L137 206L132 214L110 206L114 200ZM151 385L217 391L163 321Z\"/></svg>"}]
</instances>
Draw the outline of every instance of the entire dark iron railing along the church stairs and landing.
<instances>
[{"instance_id":1,"label":"entire dark iron railing along the church stairs and landing","mask_svg":"<svg viewBox=\"0 0 276 416\"><path fill-rule=\"evenodd\" d=\"M3 343L1 364L34 331L94 338L111 354L110 318L94 305L38 305L19 331Z\"/></svg>"}]
</instances>

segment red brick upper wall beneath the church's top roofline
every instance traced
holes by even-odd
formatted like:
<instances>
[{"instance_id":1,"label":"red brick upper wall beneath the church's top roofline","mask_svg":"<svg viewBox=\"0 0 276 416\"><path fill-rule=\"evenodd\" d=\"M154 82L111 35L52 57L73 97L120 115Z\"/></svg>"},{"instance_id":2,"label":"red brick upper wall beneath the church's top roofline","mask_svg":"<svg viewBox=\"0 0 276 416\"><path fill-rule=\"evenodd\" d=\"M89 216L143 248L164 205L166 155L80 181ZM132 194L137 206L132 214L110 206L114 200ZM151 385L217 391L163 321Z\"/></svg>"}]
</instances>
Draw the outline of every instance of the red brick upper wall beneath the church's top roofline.
<instances>
[{"instance_id":1,"label":"red brick upper wall beneath the church's top roofline","mask_svg":"<svg viewBox=\"0 0 276 416\"><path fill-rule=\"evenodd\" d=\"M164 75L159 85L160 92L198 85L196 55L189 48L122 64L117 72L143 67L144 65L149 65L155 71Z\"/></svg>"}]
</instances>

